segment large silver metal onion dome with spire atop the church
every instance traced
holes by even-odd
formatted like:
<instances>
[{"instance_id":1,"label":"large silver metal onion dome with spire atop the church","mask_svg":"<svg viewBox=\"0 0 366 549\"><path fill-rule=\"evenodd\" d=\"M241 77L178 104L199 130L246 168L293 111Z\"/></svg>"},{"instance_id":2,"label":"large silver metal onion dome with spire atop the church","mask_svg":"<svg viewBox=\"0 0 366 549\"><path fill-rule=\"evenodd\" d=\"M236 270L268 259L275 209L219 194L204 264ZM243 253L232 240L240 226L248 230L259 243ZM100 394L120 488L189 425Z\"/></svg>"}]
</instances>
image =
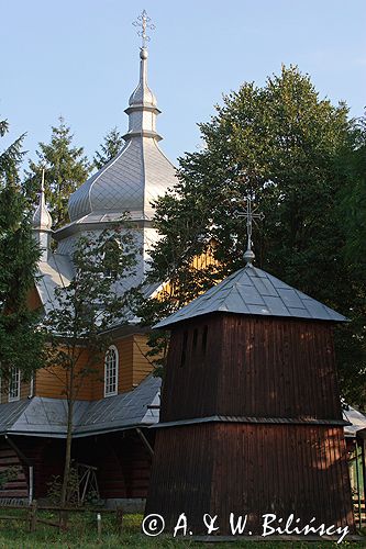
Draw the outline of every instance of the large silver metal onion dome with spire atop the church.
<instances>
[{"instance_id":1,"label":"large silver metal onion dome with spire atop the church","mask_svg":"<svg viewBox=\"0 0 366 549\"><path fill-rule=\"evenodd\" d=\"M156 132L160 113L147 86L146 46L140 51L140 78L125 113L129 131L122 150L93 173L69 199L73 222L98 222L130 212L132 220L151 220L151 202L175 184L176 170L158 147Z\"/></svg>"}]
</instances>

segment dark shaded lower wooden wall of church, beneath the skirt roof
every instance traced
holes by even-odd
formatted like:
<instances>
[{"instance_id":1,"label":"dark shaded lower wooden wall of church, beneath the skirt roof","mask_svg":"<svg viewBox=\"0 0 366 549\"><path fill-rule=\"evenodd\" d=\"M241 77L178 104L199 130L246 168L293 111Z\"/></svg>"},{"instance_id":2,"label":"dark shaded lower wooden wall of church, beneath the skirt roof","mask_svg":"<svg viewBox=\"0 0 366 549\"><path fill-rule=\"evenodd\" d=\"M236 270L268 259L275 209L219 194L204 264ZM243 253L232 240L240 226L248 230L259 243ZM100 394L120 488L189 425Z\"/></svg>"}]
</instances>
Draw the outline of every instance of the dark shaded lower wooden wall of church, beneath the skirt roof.
<instances>
[{"instance_id":1,"label":"dark shaded lower wooden wall of church, beneath the skirt roof","mask_svg":"<svg viewBox=\"0 0 366 549\"><path fill-rule=\"evenodd\" d=\"M145 433L145 436L154 445L154 435ZM33 464L34 497L46 497L53 477L63 475L65 440L41 437L13 439ZM152 457L135 430L75 439L73 460L98 468L102 498L147 496ZM0 491L0 497L27 497L27 464L22 463L8 444L1 442L0 472L12 466L19 467L19 475Z\"/></svg>"}]
</instances>

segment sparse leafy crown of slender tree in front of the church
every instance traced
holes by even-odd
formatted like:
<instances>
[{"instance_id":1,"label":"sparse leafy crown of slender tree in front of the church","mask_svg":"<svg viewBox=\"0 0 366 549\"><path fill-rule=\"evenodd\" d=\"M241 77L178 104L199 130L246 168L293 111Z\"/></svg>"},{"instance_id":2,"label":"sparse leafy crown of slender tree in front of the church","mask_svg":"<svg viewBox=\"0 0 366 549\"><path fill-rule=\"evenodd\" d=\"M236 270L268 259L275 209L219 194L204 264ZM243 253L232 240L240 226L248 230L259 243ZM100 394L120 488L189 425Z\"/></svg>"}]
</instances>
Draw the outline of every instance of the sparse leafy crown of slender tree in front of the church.
<instances>
[{"instance_id":1,"label":"sparse leafy crown of slender tree in front of the church","mask_svg":"<svg viewBox=\"0 0 366 549\"><path fill-rule=\"evenodd\" d=\"M125 222L123 225L78 237L73 251L74 278L67 287L55 290L56 306L44 321L51 365L73 368L79 344L81 348L85 344L90 355L104 352L109 345L104 332L125 321L129 292L118 293L115 288L134 273L136 246Z\"/></svg>"}]
</instances>

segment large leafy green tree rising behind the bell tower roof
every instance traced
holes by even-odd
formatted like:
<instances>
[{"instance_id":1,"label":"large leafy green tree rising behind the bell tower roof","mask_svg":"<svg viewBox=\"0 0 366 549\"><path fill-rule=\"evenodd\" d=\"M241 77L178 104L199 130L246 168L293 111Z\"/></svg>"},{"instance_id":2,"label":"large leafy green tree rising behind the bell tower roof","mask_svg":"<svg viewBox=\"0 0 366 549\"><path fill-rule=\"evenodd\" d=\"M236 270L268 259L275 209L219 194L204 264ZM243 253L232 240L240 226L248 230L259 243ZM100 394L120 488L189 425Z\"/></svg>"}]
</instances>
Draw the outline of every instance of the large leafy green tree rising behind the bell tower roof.
<instances>
[{"instance_id":1,"label":"large leafy green tree rising behind the bell tower roof","mask_svg":"<svg viewBox=\"0 0 366 549\"><path fill-rule=\"evenodd\" d=\"M155 204L163 238L153 251L153 280L171 280L178 307L243 267L246 225L234 213L249 194L265 214L254 233L256 265L353 320L336 335L345 351L339 366L345 396L362 404L365 287L354 270L354 232L348 224L346 236L339 212L350 177L340 159L359 148L346 105L320 99L309 76L282 67L263 88L244 83L225 96L200 130L204 148L180 158L174 191ZM362 216L359 193L352 200ZM192 269L193 257L210 249L219 267Z\"/></svg>"}]
</instances>

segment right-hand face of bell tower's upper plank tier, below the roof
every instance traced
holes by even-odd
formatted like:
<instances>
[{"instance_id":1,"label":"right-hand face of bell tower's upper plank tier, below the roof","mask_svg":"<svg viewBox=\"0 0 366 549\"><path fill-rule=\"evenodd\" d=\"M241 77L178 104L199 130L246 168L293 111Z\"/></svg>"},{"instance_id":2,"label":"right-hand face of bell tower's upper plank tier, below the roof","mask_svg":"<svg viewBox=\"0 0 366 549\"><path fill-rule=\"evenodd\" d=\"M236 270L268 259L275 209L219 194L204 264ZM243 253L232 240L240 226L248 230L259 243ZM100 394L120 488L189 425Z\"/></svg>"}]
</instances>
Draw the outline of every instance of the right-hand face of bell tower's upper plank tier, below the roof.
<instances>
[{"instance_id":1,"label":"right-hand face of bell tower's upper plank tier, below the roof","mask_svg":"<svg viewBox=\"0 0 366 549\"><path fill-rule=\"evenodd\" d=\"M342 419L332 325L223 316L219 413Z\"/></svg>"}]
</instances>

